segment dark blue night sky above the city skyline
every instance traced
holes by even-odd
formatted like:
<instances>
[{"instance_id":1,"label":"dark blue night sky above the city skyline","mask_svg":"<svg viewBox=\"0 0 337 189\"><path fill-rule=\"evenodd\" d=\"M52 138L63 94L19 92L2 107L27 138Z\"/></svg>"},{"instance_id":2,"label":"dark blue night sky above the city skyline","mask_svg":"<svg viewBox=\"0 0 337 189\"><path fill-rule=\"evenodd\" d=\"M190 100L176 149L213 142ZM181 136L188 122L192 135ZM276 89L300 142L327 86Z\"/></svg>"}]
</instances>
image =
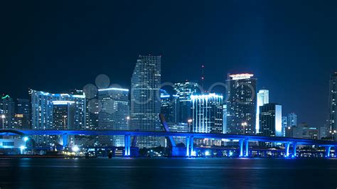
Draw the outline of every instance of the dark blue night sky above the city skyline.
<instances>
[{"instance_id":1,"label":"dark blue night sky above the city skyline","mask_svg":"<svg viewBox=\"0 0 337 189\"><path fill-rule=\"evenodd\" d=\"M81 89L100 74L129 87L139 54L162 82L252 72L270 102L325 123L337 70L337 1L1 1L0 92Z\"/></svg>"}]
</instances>

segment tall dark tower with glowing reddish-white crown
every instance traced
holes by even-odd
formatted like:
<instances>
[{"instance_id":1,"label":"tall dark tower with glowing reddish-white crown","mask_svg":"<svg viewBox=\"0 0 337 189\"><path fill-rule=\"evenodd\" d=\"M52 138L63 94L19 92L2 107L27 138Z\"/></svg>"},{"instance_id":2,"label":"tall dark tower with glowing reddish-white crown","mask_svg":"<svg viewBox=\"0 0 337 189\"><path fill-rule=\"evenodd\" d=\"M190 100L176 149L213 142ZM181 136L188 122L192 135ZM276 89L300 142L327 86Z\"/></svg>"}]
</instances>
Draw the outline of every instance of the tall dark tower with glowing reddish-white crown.
<instances>
[{"instance_id":1,"label":"tall dark tower with glowing reddish-white crown","mask_svg":"<svg viewBox=\"0 0 337 189\"><path fill-rule=\"evenodd\" d=\"M229 134L255 134L256 83L252 74L229 75L227 82L227 130Z\"/></svg>"}]
</instances>

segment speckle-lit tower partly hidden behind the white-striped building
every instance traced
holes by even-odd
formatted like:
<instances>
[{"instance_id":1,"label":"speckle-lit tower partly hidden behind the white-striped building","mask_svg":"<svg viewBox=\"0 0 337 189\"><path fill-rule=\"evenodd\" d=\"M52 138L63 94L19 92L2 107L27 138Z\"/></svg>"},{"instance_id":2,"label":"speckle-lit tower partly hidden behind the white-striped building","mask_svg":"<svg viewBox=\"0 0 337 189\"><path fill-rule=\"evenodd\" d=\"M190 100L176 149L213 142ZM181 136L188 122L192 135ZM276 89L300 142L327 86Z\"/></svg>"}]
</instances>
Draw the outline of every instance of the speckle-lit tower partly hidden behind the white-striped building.
<instances>
[{"instance_id":1,"label":"speckle-lit tower partly hidden behind the white-striped building","mask_svg":"<svg viewBox=\"0 0 337 189\"><path fill-rule=\"evenodd\" d=\"M200 94L199 85L196 82L176 82L173 90L179 98L178 122L187 123L192 118L191 95Z\"/></svg>"}]
</instances>

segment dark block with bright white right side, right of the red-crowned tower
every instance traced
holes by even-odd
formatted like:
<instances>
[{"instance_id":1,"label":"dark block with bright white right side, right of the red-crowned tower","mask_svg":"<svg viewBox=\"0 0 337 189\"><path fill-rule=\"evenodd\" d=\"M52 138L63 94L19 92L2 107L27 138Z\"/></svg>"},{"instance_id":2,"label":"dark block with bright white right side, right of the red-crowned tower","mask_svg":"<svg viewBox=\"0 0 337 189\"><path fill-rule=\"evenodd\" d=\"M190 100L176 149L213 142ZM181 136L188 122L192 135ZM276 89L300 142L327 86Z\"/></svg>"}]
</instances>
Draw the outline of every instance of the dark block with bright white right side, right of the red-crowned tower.
<instances>
[{"instance_id":1,"label":"dark block with bright white right side, right of the red-crowned tower","mask_svg":"<svg viewBox=\"0 0 337 189\"><path fill-rule=\"evenodd\" d=\"M282 106L269 103L260 107L260 134L282 136Z\"/></svg>"}]
</instances>

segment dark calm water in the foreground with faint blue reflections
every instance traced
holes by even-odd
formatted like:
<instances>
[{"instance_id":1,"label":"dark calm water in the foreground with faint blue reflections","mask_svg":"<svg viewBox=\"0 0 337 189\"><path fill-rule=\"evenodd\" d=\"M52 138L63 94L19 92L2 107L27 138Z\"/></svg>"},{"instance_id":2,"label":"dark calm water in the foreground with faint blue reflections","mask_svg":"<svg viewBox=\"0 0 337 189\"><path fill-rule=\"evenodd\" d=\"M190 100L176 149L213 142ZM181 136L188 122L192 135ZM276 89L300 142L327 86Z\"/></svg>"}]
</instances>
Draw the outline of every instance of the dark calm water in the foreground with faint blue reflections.
<instances>
[{"instance_id":1,"label":"dark calm water in the foreground with faint blue reflections","mask_svg":"<svg viewBox=\"0 0 337 189\"><path fill-rule=\"evenodd\" d=\"M337 159L0 158L0 188L337 188Z\"/></svg>"}]
</instances>

